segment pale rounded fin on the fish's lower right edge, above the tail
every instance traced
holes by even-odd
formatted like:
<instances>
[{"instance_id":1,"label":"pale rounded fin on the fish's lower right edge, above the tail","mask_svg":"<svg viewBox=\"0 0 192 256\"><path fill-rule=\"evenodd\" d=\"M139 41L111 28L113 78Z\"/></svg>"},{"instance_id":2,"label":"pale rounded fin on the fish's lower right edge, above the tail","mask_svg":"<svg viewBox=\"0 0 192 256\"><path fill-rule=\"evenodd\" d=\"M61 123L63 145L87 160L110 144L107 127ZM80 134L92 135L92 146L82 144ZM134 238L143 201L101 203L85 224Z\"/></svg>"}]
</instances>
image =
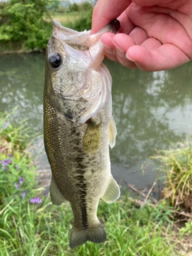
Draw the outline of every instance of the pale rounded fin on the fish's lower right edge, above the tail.
<instances>
[{"instance_id":1,"label":"pale rounded fin on the fish's lower right edge, above the tail","mask_svg":"<svg viewBox=\"0 0 192 256\"><path fill-rule=\"evenodd\" d=\"M120 188L118 186L118 183L114 180L113 176L111 176L109 185L106 188L106 192L102 196L102 200L107 203L112 203L118 200L119 197Z\"/></svg>"}]
</instances>

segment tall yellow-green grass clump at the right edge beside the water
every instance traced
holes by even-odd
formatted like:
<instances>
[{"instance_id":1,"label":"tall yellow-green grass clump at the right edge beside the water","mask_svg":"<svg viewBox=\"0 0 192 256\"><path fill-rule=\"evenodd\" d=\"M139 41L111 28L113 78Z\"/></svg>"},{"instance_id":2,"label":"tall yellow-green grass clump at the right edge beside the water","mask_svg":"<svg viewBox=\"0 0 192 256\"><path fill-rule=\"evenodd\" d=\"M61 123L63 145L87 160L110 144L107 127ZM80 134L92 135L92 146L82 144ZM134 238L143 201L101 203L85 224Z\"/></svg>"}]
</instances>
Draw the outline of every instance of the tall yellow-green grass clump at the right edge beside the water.
<instances>
[{"instance_id":1,"label":"tall yellow-green grass clump at the right edge beside the water","mask_svg":"<svg viewBox=\"0 0 192 256\"><path fill-rule=\"evenodd\" d=\"M192 213L192 144L179 143L171 150L159 150L152 157L166 174L162 198L174 209Z\"/></svg>"}]
</instances>

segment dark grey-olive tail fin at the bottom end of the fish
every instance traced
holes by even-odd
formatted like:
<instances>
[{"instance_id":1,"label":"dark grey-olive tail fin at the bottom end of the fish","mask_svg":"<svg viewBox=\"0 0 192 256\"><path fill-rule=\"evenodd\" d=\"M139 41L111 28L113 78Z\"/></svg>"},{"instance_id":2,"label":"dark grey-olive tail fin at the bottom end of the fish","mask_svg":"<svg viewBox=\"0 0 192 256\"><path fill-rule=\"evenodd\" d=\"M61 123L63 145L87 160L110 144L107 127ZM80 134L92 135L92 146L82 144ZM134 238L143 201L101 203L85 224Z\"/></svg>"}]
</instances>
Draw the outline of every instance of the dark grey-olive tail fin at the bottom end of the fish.
<instances>
[{"instance_id":1,"label":"dark grey-olive tail fin at the bottom end of the fish","mask_svg":"<svg viewBox=\"0 0 192 256\"><path fill-rule=\"evenodd\" d=\"M70 248L81 246L86 241L100 243L106 241L106 232L99 223L97 227L89 230L72 230L70 236Z\"/></svg>"}]
</instances>

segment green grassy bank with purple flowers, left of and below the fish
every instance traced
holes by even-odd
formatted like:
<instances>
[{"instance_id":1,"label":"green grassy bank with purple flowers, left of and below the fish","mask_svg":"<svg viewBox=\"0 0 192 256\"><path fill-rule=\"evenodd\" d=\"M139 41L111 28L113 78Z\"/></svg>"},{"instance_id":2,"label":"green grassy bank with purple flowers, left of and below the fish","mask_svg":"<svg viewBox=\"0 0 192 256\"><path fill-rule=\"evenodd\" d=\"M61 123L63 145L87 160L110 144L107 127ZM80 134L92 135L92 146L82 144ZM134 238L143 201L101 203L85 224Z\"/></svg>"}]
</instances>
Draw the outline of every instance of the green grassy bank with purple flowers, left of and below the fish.
<instances>
[{"instance_id":1,"label":"green grassy bank with purple flowers, left of and below the fish","mask_svg":"<svg viewBox=\"0 0 192 256\"><path fill-rule=\"evenodd\" d=\"M37 189L26 134L22 123L15 126L0 115L0 255L182 255L185 230L178 231L171 221L172 208L164 202L138 207L127 194L111 205L99 204L105 243L86 242L70 250L70 205L53 206L49 195Z\"/></svg>"}]
</instances>

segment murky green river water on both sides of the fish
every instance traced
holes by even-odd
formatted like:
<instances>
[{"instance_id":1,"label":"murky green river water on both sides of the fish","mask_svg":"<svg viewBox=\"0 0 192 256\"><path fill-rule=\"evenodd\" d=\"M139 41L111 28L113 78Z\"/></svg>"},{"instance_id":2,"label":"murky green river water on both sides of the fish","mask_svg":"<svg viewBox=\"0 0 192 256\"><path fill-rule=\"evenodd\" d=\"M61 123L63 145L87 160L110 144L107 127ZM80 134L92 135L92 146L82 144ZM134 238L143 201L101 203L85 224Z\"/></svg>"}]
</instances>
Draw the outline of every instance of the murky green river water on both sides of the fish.
<instances>
[{"instance_id":1,"label":"murky green river water on both sides of the fish","mask_svg":"<svg viewBox=\"0 0 192 256\"><path fill-rule=\"evenodd\" d=\"M116 145L110 150L112 173L122 185L150 187L157 176L149 159L155 149L169 149L171 142L192 135L192 62L153 73L105 63L113 78L118 129ZM13 120L28 118L34 134L42 134L44 66L44 54L0 55L0 111L11 112L18 106ZM43 145L42 138L34 143ZM38 165L50 171L45 154Z\"/></svg>"}]
</instances>

